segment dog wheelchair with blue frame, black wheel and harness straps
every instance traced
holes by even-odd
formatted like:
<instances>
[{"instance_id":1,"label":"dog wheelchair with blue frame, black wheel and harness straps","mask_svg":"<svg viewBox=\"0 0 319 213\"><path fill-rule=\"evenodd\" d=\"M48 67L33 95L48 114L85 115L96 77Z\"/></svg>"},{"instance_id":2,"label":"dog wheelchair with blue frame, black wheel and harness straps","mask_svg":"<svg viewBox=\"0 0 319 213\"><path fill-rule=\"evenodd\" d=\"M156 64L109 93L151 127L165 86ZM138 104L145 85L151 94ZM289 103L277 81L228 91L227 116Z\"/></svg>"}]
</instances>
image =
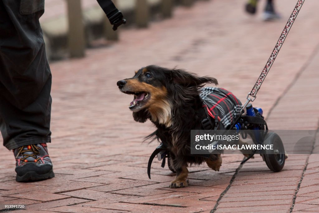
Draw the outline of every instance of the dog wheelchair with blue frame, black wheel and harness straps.
<instances>
[{"instance_id":1,"label":"dog wheelchair with blue frame, black wheel and harness straps","mask_svg":"<svg viewBox=\"0 0 319 213\"><path fill-rule=\"evenodd\" d=\"M263 111L261 108L253 107L248 104L245 108L245 115L241 115L236 118L235 122L229 126L227 130L233 130L233 134L241 134L243 139L246 139L249 135L255 145L272 145L273 149L258 150L254 149L249 156L247 156L241 164L247 162L251 157L253 157L257 152L262 156L263 161L266 163L267 167L274 172L281 171L285 165L286 155L284 145L277 133L269 132L266 121L263 117ZM202 126L204 130L212 130L212 126L218 126L218 119L215 119L215 125L211 125L211 119L209 116L202 121ZM215 128L216 130L217 128ZM249 130L249 131L244 131ZM168 168L175 172L174 168L170 164L170 153L161 143L152 153L149 158L147 174L151 179L150 171L151 165L154 157L157 156L158 160L162 160L161 167L165 167L166 158ZM209 158L210 154L194 154L194 156L202 156Z\"/></svg>"}]
</instances>

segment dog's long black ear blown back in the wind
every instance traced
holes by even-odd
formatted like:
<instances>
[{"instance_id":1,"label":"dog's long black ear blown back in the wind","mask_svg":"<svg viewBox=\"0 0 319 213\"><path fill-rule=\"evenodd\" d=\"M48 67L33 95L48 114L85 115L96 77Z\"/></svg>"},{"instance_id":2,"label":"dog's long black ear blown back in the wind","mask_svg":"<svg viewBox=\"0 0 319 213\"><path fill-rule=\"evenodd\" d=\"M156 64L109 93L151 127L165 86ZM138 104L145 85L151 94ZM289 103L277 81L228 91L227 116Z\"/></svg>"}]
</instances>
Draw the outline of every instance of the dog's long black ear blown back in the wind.
<instances>
[{"instance_id":1,"label":"dog's long black ear blown back in the wind","mask_svg":"<svg viewBox=\"0 0 319 213\"><path fill-rule=\"evenodd\" d=\"M201 87L205 83L218 85L218 81L215 78L208 76L199 77L195 73L186 72L181 69L173 69L171 71L171 78L174 83L180 84L184 87Z\"/></svg>"}]
</instances>

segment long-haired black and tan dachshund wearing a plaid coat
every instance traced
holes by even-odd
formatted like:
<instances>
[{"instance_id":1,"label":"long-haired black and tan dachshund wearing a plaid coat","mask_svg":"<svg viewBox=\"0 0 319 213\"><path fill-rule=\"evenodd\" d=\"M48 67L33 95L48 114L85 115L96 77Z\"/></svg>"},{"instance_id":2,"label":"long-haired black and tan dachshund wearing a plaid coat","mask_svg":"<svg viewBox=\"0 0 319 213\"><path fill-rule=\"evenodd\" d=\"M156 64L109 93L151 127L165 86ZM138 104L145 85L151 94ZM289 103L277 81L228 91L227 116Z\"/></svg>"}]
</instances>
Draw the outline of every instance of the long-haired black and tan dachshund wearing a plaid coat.
<instances>
[{"instance_id":1,"label":"long-haired black and tan dachshund wearing a plaid coat","mask_svg":"<svg viewBox=\"0 0 319 213\"><path fill-rule=\"evenodd\" d=\"M232 93L221 88L203 88L206 83L218 85L215 78L200 77L181 69L171 70L155 65L141 68L132 78L117 82L121 92L134 95L129 106L134 120L144 123L149 119L156 126L156 132L147 138L160 139L169 150L168 163L176 171L176 177L170 184L172 188L188 186L188 165L206 162L211 169L219 171L222 164L220 154L212 154L209 158L190 155L190 132L203 129L201 121L206 116L205 110L214 117L217 111L226 111L218 110L218 104L225 104L226 101L235 103L232 109L229 109L229 104L225 105L229 112L219 119L219 129L225 129L234 121L236 113L240 113L241 103ZM204 103L208 91L222 92L209 95L218 97L212 107ZM203 96L204 93L206 96ZM218 114L218 118L219 116L222 115Z\"/></svg>"}]
</instances>

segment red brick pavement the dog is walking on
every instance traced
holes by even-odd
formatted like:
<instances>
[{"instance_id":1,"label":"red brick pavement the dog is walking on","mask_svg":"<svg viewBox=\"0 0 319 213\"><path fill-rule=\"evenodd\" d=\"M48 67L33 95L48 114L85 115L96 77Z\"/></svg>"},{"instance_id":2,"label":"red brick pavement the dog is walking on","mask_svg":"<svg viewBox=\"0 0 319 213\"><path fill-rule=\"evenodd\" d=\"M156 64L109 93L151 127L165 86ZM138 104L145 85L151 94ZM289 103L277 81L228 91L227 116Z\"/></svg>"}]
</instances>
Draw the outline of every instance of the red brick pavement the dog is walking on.
<instances>
[{"instance_id":1,"label":"red brick pavement the dog is walking on","mask_svg":"<svg viewBox=\"0 0 319 213\"><path fill-rule=\"evenodd\" d=\"M15 182L13 155L1 147L0 204L26 205L14 212L318 212L318 134L313 154L290 155L278 173L261 157L239 168L241 155L224 155L219 172L190 168L186 188L168 188L173 174L159 162L147 178L157 144L141 141L153 127L133 121L131 97L116 81L145 65L178 65L216 77L244 100L295 4L277 1L283 19L263 23L244 14L244 2L198 1L148 29L122 30L120 42L83 59L51 63L56 177ZM318 129L318 6L305 2L254 102L271 129Z\"/></svg>"}]
</instances>

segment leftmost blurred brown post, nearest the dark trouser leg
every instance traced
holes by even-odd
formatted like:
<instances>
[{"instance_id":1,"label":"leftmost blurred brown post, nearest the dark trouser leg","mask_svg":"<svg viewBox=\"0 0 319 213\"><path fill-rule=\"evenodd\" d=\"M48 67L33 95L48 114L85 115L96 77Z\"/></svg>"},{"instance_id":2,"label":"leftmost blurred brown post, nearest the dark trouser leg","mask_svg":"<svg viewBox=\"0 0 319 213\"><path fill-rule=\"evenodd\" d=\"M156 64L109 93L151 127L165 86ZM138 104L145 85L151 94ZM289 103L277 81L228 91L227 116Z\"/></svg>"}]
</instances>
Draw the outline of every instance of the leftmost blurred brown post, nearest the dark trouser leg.
<instances>
[{"instance_id":1,"label":"leftmost blurred brown post, nearest the dark trouser leg","mask_svg":"<svg viewBox=\"0 0 319 213\"><path fill-rule=\"evenodd\" d=\"M81 1L66 0L68 11L68 43L70 57L84 57L85 55L85 35L82 18Z\"/></svg>"}]
</instances>

